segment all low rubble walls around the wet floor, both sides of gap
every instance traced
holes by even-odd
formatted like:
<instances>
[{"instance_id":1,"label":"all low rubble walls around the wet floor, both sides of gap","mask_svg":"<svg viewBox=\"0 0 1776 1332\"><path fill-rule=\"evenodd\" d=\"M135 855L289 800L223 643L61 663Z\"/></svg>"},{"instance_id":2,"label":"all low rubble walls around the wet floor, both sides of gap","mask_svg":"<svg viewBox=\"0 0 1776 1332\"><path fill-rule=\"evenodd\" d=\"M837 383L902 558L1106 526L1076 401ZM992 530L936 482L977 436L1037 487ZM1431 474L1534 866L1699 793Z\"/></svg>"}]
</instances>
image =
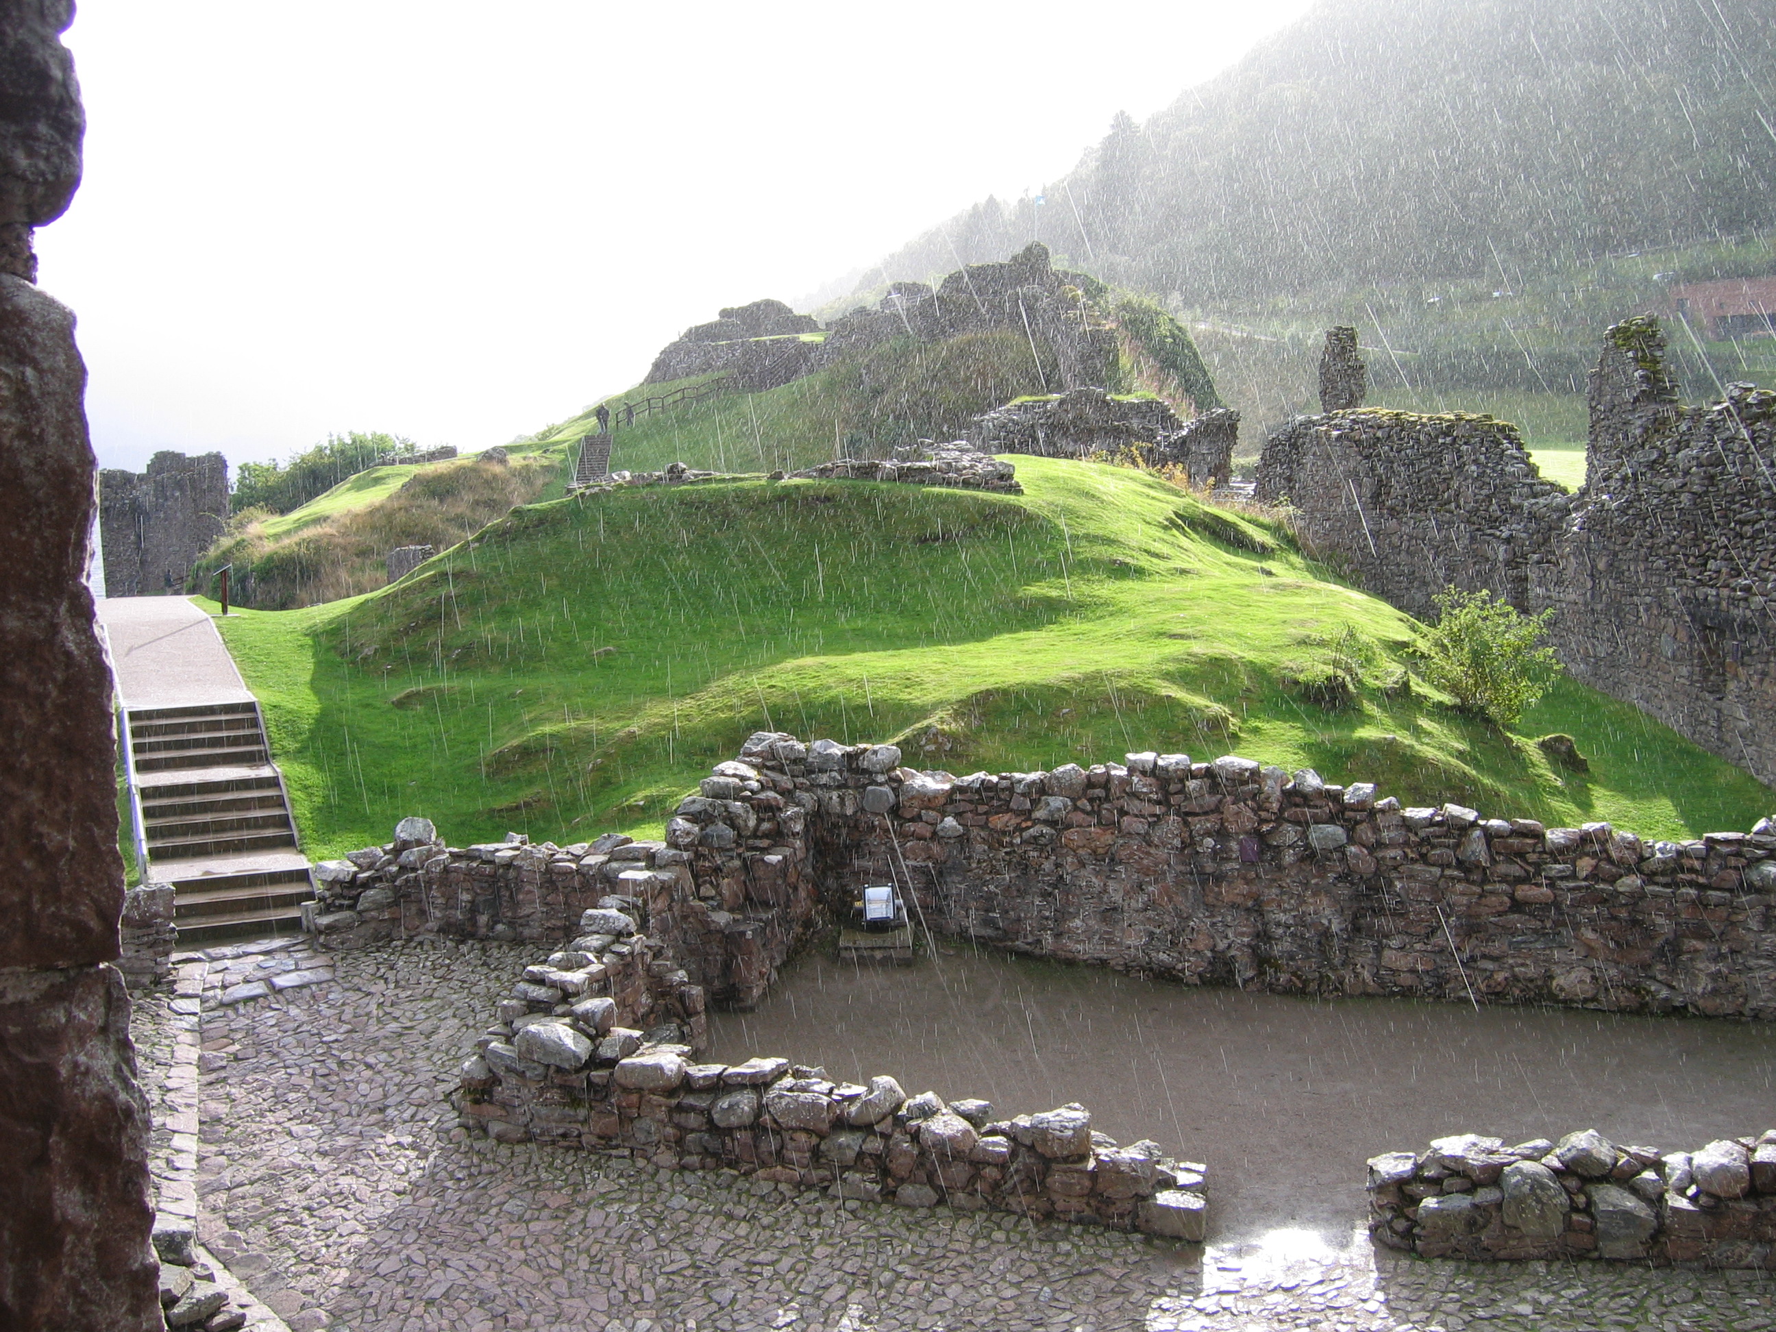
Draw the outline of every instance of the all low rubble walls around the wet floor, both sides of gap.
<instances>
[{"instance_id":1,"label":"all low rubble walls around the wet floor, both sides of gap","mask_svg":"<svg viewBox=\"0 0 1776 1332\"><path fill-rule=\"evenodd\" d=\"M760 732L661 840L453 849L414 819L320 879L327 947L549 950L460 1071L476 1133L1176 1238L1204 1234L1199 1163L1119 1147L1082 1106L1003 1119L888 1076L700 1064L705 1009L757 1003L863 883L893 879L947 936L1186 984L1776 1016L1776 821L1643 842L1401 808L1234 755L954 778L902 767L892 744ZM1371 1229L1426 1257L1756 1268L1776 1243L1772 1167L1776 1131L1671 1154L1590 1131L1440 1138L1371 1162Z\"/></svg>"}]
</instances>

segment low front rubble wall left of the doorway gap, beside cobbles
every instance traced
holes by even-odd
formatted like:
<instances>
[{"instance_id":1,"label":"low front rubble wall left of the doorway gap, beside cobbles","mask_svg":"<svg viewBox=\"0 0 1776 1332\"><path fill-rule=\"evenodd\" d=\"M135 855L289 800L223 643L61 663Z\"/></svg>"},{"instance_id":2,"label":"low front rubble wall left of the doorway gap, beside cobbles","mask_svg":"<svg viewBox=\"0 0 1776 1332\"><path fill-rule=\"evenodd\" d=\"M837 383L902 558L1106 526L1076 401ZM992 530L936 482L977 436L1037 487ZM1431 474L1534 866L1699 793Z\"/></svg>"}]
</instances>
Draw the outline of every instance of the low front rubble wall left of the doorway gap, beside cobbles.
<instances>
[{"instance_id":1,"label":"low front rubble wall left of the doorway gap, beside cobbles","mask_svg":"<svg viewBox=\"0 0 1776 1332\"><path fill-rule=\"evenodd\" d=\"M996 1119L986 1101L908 1099L886 1076L861 1087L787 1058L691 1062L702 1012L646 1034L618 1021L634 1019L634 1003L609 961L634 947L634 922L593 909L581 925L588 934L572 948L526 970L464 1064L464 1128L661 1169L737 1170L785 1192L1202 1240L1206 1167L1172 1162L1154 1142L1119 1147L1092 1131L1083 1106Z\"/></svg>"}]
</instances>

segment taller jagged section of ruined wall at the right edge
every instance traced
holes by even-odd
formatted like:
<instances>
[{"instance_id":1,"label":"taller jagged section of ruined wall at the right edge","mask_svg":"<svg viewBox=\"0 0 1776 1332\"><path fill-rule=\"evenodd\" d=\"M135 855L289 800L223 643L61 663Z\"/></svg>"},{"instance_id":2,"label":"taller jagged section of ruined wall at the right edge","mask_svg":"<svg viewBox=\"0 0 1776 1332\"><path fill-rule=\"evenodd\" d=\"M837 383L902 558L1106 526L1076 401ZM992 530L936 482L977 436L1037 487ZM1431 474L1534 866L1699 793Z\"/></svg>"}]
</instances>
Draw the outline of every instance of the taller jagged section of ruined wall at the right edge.
<instances>
[{"instance_id":1,"label":"taller jagged section of ruined wall at the right edge","mask_svg":"<svg viewBox=\"0 0 1776 1332\"><path fill-rule=\"evenodd\" d=\"M1652 320L1611 330L1529 604L1577 678L1776 785L1776 394L1678 407L1661 350Z\"/></svg>"}]
</instances>

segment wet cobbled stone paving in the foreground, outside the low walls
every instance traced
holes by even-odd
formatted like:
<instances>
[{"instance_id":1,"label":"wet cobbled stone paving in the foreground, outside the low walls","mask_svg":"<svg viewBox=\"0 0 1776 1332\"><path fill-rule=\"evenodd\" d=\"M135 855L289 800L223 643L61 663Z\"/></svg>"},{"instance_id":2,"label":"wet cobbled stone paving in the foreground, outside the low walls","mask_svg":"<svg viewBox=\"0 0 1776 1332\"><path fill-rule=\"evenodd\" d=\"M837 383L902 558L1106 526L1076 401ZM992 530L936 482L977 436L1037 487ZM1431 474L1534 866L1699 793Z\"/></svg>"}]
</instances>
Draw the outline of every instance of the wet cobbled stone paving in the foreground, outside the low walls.
<instances>
[{"instance_id":1,"label":"wet cobbled stone paving in the foreground, outside the low walls","mask_svg":"<svg viewBox=\"0 0 1776 1332\"><path fill-rule=\"evenodd\" d=\"M208 987L199 1236L291 1328L1776 1327L1756 1273L1437 1263L1289 1231L1202 1250L471 1138L446 1096L529 952L387 945L258 998ZM142 1037L144 1057L163 1043Z\"/></svg>"}]
</instances>

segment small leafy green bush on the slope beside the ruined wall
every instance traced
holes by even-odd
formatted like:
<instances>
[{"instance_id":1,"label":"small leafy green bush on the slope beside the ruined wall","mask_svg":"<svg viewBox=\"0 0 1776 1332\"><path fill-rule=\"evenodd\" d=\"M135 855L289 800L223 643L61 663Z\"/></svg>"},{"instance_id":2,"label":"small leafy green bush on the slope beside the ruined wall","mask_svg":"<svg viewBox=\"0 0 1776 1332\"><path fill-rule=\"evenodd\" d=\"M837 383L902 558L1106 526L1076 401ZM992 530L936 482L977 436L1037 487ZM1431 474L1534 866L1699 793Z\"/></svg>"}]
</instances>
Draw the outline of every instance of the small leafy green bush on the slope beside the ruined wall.
<instances>
[{"instance_id":1,"label":"small leafy green bush on the slope beside the ruined wall","mask_svg":"<svg viewBox=\"0 0 1776 1332\"><path fill-rule=\"evenodd\" d=\"M1554 613L1522 614L1485 588L1451 586L1435 600L1437 623L1419 630L1424 678L1462 712L1515 725L1559 675L1554 650L1540 646Z\"/></svg>"}]
</instances>

